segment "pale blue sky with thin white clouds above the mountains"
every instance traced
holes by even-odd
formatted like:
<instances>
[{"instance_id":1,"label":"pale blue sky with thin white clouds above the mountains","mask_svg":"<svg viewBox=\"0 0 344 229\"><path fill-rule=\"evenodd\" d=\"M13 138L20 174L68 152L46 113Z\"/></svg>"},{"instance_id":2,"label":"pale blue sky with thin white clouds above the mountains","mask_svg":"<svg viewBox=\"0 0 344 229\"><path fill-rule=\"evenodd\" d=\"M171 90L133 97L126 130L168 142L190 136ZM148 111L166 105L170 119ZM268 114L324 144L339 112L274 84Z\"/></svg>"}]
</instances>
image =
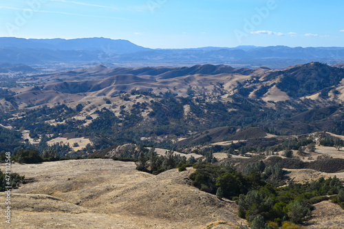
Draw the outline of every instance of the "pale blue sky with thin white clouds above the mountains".
<instances>
[{"instance_id":1,"label":"pale blue sky with thin white clouds above the mountains","mask_svg":"<svg viewBox=\"0 0 344 229\"><path fill-rule=\"evenodd\" d=\"M150 48L343 47L343 9L343 0L0 0L0 36L105 37Z\"/></svg>"}]
</instances>

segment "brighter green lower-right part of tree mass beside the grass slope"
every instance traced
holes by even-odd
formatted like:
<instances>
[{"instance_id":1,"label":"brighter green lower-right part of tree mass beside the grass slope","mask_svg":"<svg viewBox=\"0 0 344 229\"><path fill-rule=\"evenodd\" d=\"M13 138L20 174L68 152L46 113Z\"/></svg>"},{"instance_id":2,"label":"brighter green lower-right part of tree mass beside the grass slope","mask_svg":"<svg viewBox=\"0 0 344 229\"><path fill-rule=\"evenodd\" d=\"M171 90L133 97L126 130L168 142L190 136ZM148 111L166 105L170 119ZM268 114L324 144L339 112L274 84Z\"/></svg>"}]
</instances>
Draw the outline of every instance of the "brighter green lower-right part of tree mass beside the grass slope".
<instances>
[{"instance_id":1,"label":"brighter green lower-right part of tree mass beside the grass slope","mask_svg":"<svg viewBox=\"0 0 344 229\"><path fill-rule=\"evenodd\" d=\"M265 221L279 225L283 221L303 223L312 215L312 204L330 199L327 195L335 195L333 199L341 200L338 193L343 193L343 190L343 185L336 177L321 177L307 184L290 183L282 188L266 184L239 196L239 216L250 222L260 215Z\"/></svg>"}]
</instances>

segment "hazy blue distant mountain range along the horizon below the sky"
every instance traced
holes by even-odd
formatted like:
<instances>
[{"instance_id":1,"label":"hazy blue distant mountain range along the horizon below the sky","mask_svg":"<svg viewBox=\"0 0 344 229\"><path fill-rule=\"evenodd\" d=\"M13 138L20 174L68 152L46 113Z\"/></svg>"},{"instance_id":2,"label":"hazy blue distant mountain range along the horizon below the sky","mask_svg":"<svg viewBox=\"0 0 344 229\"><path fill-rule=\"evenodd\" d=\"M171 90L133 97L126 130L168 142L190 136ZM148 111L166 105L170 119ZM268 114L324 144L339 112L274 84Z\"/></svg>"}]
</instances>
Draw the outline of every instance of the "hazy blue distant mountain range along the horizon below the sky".
<instances>
[{"instance_id":1,"label":"hazy blue distant mountain range along the horizon below the sky","mask_svg":"<svg viewBox=\"0 0 344 229\"><path fill-rule=\"evenodd\" d=\"M344 47L238 46L149 49L126 40L0 38L0 63L126 63L143 65L226 64L235 67L283 68L319 61L344 62Z\"/></svg>"}]
</instances>

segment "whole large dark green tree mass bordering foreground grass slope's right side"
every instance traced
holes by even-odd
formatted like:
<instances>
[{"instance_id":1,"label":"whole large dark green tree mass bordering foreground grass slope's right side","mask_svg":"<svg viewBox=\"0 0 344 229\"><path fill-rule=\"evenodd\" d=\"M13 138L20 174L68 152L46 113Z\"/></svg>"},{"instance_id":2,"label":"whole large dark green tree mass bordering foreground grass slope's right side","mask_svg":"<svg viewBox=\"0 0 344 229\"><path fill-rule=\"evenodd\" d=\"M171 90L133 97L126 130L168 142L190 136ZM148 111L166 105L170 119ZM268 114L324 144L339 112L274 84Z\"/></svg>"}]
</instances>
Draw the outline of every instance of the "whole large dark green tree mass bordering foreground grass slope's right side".
<instances>
[{"instance_id":1,"label":"whole large dark green tree mass bordering foreground grass slope's right side","mask_svg":"<svg viewBox=\"0 0 344 229\"><path fill-rule=\"evenodd\" d=\"M283 221L303 223L314 209L312 204L328 196L343 207L344 187L336 177L277 188L283 178L281 164L265 166L259 161L246 168L246 175L228 165L197 163L194 168L193 186L219 199L236 200L239 216L252 223L251 228L277 228Z\"/></svg>"}]
</instances>

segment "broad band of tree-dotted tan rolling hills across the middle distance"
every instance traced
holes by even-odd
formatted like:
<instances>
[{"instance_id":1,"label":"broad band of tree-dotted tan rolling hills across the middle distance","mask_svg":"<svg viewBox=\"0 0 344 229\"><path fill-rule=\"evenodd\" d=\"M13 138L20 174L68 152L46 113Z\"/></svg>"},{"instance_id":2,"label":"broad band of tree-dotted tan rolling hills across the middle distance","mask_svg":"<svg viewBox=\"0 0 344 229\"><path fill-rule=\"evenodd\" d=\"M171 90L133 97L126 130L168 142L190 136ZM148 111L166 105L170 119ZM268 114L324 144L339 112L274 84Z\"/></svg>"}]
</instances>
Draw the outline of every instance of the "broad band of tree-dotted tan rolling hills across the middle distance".
<instances>
[{"instance_id":1,"label":"broad band of tree-dotted tan rolling hills across the middle distance","mask_svg":"<svg viewBox=\"0 0 344 229\"><path fill-rule=\"evenodd\" d=\"M7 112L1 124L22 127L31 141L53 140L54 133L54 139L86 138L94 149L131 141L189 146L267 133L341 135L343 78L343 68L322 63L277 70L98 65L14 79L17 86L3 89L0 99Z\"/></svg>"}]
</instances>

